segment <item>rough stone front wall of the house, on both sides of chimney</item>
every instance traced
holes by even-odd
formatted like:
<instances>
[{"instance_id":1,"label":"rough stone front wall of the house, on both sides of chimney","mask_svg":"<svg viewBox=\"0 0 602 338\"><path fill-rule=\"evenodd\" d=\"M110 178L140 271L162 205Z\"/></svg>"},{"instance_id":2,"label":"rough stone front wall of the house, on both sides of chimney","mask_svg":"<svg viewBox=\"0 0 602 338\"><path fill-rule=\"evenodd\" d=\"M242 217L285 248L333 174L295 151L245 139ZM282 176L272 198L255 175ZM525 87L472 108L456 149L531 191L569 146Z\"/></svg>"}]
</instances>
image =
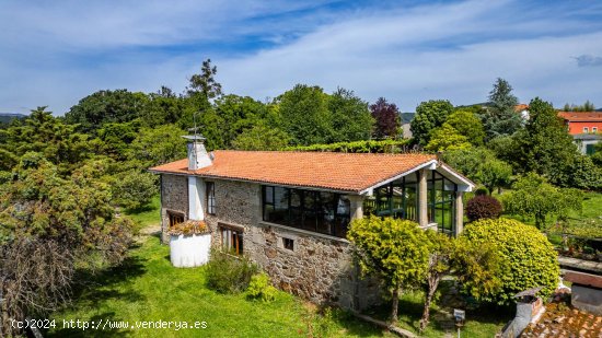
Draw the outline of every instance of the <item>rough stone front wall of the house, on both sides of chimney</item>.
<instances>
[{"instance_id":1,"label":"rough stone front wall of the house, on both sides of chimney","mask_svg":"<svg viewBox=\"0 0 602 338\"><path fill-rule=\"evenodd\" d=\"M263 222L259 184L212 182L216 212L207 214L205 221L211 230L213 246L221 245L220 228L242 230L244 254L271 277L276 287L314 303L347 308L359 310L380 302L378 284L358 278L346 240ZM170 178L163 180L166 184L180 189L185 180L175 183ZM183 188L181 194L185 196L187 190ZM171 197L170 202L175 200ZM187 200L180 198L177 202L180 209L187 208ZM292 250L285 247L285 240L292 243Z\"/></svg>"}]
</instances>

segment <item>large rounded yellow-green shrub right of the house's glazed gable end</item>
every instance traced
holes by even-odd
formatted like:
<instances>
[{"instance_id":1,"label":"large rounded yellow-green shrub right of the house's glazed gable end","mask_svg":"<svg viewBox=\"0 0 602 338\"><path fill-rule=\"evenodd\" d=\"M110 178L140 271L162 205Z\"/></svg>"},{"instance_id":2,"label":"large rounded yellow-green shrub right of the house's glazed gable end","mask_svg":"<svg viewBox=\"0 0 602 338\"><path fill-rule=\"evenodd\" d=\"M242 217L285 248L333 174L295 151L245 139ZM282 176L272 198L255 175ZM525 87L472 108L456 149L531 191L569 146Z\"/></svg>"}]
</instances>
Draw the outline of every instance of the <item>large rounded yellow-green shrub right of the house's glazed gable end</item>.
<instances>
[{"instance_id":1,"label":"large rounded yellow-green shrub right of the house's glazed gable end","mask_svg":"<svg viewBox=\"0 0 602 338\"><path fill-rule=\"evenodd\" d=\"M501 257L501 288L485 292L481 300L511 304L513 295L543 287L544 300L554 292L560 269L552 244L536 228L510 219L483 219L466 225L462 234L470 243L493 245Z\"/></svg>"}]
</instances>

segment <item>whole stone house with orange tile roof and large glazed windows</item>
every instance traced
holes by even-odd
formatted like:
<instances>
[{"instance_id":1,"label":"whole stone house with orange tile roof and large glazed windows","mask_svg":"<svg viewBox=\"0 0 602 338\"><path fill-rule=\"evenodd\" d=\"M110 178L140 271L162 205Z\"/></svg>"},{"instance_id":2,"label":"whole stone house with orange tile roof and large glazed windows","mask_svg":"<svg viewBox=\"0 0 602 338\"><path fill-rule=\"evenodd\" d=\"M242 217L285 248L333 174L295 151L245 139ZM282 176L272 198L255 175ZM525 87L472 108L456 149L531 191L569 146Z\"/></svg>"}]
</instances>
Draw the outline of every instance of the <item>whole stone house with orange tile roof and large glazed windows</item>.
<instances>
[{"instance_id":1,"label":"whole stone house with orange tile roof and large glazed windows","mask_svg":"<svg viewBox=\"0 0 602 338\"><path fill-rule=\"evenodd\" d=\"M415 220L458 234L474 184L431 154L218 150L187 137L188 158L161 176L162 241L170 226L202 220L213 246L256 261L280 289L315 303L362 308L375 284L358 278L345 238L367 214Z\"/></svg>"}]
</instances>

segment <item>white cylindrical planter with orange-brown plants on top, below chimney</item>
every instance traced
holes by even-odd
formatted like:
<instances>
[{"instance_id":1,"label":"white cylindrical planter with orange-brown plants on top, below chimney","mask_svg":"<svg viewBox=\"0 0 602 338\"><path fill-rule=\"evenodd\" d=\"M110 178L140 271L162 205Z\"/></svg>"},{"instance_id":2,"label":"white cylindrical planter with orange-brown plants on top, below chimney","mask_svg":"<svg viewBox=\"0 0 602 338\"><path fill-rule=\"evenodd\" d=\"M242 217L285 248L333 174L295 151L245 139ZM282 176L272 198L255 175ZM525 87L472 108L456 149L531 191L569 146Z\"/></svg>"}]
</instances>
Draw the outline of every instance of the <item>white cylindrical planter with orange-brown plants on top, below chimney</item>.
<instances>
[{"instance_id":1,"label":"white cylindrical planter with orange-brown plants on top, below chimney","mask_svg":"<svg viewBox=\"0 0 602 338\"><path fill-rule=\"evenodd\" d=\"M198 267L209 261L211 232L204 221L182 222L169 233L170 259L174 267Z\"/></svg>"}]
</instances>

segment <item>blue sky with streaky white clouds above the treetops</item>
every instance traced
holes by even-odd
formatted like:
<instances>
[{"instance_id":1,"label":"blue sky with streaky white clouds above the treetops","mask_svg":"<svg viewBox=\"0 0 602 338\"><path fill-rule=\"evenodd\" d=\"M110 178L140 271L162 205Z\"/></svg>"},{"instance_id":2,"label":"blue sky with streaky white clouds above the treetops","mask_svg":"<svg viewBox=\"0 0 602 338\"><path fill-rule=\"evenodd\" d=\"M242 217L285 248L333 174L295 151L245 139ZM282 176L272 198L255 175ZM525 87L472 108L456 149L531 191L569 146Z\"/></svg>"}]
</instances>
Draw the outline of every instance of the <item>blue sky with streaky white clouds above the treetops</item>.
<instances>
[{"instance_id":1,"label":"blue sky with streaky white clouds above the treetops","mask_svg":"<svg viewBox=\"0 0 602 338\"><path fill-rule=\"evenodd\" d=\"M0 112L62 115L97 90L182 92L204 59L225 93L296 83L413 112L484 102L602 107L602 1L0 0Z\"/></svg>"}]
</instances>

